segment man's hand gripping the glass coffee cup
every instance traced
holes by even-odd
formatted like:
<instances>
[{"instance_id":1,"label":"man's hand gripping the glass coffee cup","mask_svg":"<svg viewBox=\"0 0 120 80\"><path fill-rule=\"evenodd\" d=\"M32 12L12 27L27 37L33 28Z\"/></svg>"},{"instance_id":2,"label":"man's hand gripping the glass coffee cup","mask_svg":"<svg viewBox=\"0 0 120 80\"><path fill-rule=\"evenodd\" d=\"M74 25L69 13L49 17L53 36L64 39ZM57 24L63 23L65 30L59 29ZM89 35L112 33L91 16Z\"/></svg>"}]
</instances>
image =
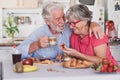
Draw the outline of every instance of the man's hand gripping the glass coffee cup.
<instances>
[{"instance_id":1,"label":"man's hand gripping the glass coffee cup","mask_svg":"<svg viewBox=\"0 0 120 80\"><path fill-rule=\"evenodd\" d=\"M38 45L39 45L40 48L48 47L48 45L49 45L48 36L41 36L38 40Z\"/></svg>"}]
</instances>

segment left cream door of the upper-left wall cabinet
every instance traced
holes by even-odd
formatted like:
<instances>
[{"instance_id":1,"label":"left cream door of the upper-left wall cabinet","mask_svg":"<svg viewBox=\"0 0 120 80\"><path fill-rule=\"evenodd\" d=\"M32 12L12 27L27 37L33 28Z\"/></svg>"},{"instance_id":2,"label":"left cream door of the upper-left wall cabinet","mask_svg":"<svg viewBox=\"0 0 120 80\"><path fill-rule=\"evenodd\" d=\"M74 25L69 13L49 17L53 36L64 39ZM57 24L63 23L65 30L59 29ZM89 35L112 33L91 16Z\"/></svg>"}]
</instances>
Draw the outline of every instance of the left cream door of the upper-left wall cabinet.
<instances>
[{"instance_id":1,"label":"left cream door of the upper-left wall cabinet","mask_svg":"<svg viewBox=\"0 0 120 80\"><path fill-rule=\"evenodd\" d=\"M0 0L0 8L15 8L19 5L18 0Z\"/></svg>"}]
</instances>

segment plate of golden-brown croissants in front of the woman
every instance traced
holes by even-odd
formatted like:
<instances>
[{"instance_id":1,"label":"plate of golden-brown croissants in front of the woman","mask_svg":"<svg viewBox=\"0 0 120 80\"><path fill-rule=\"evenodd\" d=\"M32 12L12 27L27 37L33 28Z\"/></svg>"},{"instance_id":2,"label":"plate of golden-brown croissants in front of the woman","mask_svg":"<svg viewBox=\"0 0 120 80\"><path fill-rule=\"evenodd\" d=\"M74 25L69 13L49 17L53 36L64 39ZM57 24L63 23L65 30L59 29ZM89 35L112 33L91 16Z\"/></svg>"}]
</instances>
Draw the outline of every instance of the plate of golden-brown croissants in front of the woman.
<instances>
[{"instance_id":1,"label":"plate of golden-brown croissants in front of the woman","mask_svg":"<svg viewBox=\"0 0 120 80\"><path fill-rule=\"evenodd\" d=\"M87 68L93 63L89 61L82 61L80 59L72 58L69 61L63 62L63 67L65 68Z\"/></svg>"}]
</instances>

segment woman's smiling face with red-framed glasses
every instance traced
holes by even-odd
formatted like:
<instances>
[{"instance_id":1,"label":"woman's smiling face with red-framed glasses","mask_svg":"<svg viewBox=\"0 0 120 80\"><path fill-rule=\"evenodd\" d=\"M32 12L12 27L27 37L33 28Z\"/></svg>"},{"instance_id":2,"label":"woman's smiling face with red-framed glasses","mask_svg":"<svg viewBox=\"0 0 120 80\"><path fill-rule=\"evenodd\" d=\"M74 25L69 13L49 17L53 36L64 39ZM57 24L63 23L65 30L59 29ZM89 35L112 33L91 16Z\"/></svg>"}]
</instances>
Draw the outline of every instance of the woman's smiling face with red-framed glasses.
<instances>
[{"instance_id":1,"label":"woman's smiling face with red-framed glasses","mask_svg":"<svg viewBox=\"0 0 120 80\"><path fill-rule=\"evenodd\" d=\"M75 34L84 34L85 31L87 31L86 28L86 24L87 21L81 21L81 20L68 20L69 26L70 28L73 30L73 32Z\"/></svg>"}]
</instances>

